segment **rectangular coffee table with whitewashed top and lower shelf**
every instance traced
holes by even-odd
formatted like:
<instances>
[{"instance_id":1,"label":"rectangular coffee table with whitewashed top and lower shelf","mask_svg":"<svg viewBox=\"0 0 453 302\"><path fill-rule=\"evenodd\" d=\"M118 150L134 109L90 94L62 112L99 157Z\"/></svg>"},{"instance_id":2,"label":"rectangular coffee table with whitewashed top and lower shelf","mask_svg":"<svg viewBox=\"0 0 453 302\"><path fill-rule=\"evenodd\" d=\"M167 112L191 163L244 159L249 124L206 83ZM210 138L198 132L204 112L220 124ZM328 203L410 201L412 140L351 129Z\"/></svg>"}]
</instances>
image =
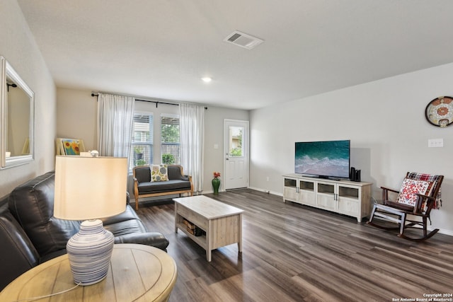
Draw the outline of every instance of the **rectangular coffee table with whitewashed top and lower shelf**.
<instances>
[{"instance_id":1,"label":"rectangular coffee table with whitewashed top and lower shelf","mask_svg":"<svg viewBox=\"0 0 453 302\"><path fill-rule=\"evenodd\" d=\"M173 200L175 201L175 232L178 233L179 228L204 248L208 262L211 261L211 251L225 245L237 243L239 252L242 252L243 210L204 195ZM194 236L189 233L183 222L184 219L201 228L206 235Z\"/></svg>"}]
</instances>

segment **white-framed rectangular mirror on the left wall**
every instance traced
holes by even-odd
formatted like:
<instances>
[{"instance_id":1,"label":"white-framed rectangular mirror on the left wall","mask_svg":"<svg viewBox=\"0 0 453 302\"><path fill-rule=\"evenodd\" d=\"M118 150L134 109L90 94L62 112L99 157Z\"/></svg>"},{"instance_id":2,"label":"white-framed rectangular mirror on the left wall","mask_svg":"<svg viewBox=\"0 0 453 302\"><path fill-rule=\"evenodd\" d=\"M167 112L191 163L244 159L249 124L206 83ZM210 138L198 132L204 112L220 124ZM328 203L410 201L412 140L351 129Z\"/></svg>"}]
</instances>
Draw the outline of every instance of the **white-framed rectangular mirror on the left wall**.
<instances>
[{"instance_id":1,"label":"white-framed rectangular mirror on the left wall","mask_svg":"<svg viewBox=\"0 0 453 302\"><path fill-rule=\"evenodd\" d=\"M0 57L0 168L33 161L35 94Z\"/></svg>"}]
</instances>

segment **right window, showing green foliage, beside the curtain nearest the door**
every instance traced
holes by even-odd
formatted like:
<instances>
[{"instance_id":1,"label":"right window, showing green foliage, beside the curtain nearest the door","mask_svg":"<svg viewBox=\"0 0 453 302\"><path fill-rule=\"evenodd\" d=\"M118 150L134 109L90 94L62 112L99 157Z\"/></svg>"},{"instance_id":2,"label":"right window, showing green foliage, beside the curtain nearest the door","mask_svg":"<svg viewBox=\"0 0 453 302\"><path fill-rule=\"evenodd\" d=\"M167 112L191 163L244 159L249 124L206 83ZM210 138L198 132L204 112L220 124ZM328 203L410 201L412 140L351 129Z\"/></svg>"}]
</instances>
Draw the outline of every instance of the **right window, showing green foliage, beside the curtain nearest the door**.
<instances>
[{"instance_id":1,"label":"right window, showing green foliage, beside the curtain nearest the door","mask_svg":"<svg viewBox=\"0 0 453 302\"><path fill-rule=\"evenodd\" d=\"M161 161L180 164L179 115L161 114Z\"/></svg>"}]
</instances>

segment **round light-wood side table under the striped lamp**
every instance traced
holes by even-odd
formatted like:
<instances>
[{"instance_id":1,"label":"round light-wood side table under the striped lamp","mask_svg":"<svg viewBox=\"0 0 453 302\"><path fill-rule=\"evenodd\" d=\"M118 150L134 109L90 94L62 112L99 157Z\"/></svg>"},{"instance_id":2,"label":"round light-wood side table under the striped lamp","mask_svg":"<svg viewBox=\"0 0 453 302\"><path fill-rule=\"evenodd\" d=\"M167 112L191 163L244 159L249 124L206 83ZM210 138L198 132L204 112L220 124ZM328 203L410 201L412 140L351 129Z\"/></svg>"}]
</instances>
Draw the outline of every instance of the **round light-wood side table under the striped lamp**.
<instances>
[{"instance_id":1,"label":"round light-wood side table under the striped lamp","mask_svg":"<svg viewBox=\"0 0 453 302\"><path fill-rule=\"evenodd\" d=\"M117 244L105 279L38 301L168 301L176 277L175 261L163 250ZM12 281L1 291L0 301L46 296L74 286L68 256L62 255Z\"/></svg>"}]
</instances>

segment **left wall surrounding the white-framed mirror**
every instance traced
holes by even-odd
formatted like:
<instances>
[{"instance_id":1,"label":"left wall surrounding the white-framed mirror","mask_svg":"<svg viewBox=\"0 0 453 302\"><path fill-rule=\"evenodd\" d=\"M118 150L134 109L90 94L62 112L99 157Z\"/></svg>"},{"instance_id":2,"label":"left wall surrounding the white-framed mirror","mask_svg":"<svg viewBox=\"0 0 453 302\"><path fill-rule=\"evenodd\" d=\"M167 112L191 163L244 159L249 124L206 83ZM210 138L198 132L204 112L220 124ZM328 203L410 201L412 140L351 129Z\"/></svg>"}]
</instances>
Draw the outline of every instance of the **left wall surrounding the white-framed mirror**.
<instances>
[{"instance_id":1,"label":"left wall surrounding the white-framed mirror","mask_svg":"<svg viewBox=\"0 0 453 302\"><path fill-rule=\"evenodd\" d=\"M55 84L16 0L0 1L0 55L35 93L35 161L0 170L0 197L55 167Z\"/></svg>"}]
</instances>

